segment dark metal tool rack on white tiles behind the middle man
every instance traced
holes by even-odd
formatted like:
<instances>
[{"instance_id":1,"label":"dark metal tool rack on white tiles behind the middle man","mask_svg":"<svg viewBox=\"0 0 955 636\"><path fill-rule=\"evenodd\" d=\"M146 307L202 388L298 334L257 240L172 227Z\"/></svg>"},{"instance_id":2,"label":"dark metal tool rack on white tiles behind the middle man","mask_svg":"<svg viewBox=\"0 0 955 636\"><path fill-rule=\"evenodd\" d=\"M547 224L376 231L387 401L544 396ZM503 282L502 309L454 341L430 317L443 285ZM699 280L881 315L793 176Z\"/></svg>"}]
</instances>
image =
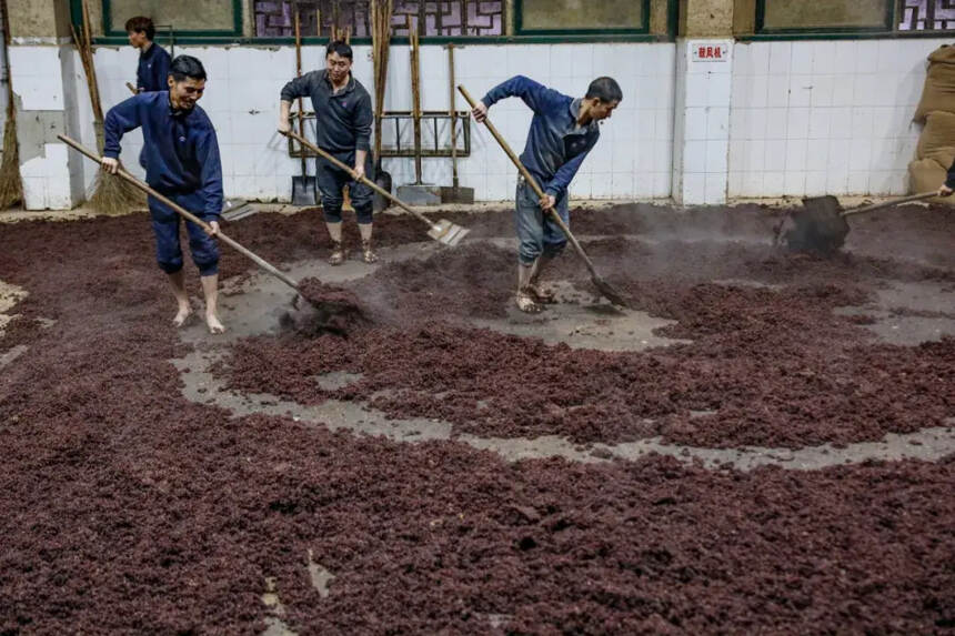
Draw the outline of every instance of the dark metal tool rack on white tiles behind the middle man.
<instances>
[{"instance_id":1,"label":"dark metal tool rack on white tiles behind the middle man","mask_svg":"<svg viewBox=\"0 0 955 636\"><path fill-rule=\"evenodd\" d=\"M298 125L298 112L293 112L290 114L290 123L293 128ZM392 127L388 122L394 122L394 138L385 139L385 134L382 133L382 147L381 147L381 155L382 157L396 157L396 158L414 158L414 143L411 141L405 141L402 143L401 140L401 127L404 123L405 128L409 128L414 120L414 115L411 111L392 111L384 113L384 121L382 122L382 131L385 129L391 129ZM446 157L451 158L451 113L448 111L423 111L421 113L422 120L422 129L430 128L433 132L433 137L431 139L432 144L429 148L421 149L421 157L423 158L441 158ZM305 127L308 129L314 130L315 125L315 113L311 111L305 111L304 113ZM446 122L446 125L441 129L439 124L442 122ZM444 138L440 139L440 132L444 131ZM461 138L464 139L464 143L461 143ZM470 157L471 155L471 112L466 110L462 110L458 112L458 157ZM295 142L292 138L289 138L289 157L293 159L301 159L302 157L302 147ZM315 153L305 149L304 150L305 158L314 158Z\"/></svg>"}]
</instances>

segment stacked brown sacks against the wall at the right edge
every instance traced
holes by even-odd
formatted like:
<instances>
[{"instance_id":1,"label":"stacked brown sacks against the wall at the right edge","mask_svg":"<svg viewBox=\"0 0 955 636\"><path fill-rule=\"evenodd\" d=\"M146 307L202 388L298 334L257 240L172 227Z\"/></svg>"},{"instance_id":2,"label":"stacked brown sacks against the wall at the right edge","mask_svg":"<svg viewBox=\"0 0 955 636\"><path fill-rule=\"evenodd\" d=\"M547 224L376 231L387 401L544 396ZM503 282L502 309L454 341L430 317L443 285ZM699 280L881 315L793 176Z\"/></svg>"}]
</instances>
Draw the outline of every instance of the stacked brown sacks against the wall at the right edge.
<instances>
[{"instance_id":1,"label":"stacked brown sacks against the wall at the right edge","mask_svg":"<svg viewBox=\"0 0 955 636\"><path fill-rule=\"evenodd\" d=\"M955 47L944 44L928 55L928 75L913 119L925 128L918 138L918 159L908 164L909 190L938 190L955 161Z\"/></svg>"}]
</instances>

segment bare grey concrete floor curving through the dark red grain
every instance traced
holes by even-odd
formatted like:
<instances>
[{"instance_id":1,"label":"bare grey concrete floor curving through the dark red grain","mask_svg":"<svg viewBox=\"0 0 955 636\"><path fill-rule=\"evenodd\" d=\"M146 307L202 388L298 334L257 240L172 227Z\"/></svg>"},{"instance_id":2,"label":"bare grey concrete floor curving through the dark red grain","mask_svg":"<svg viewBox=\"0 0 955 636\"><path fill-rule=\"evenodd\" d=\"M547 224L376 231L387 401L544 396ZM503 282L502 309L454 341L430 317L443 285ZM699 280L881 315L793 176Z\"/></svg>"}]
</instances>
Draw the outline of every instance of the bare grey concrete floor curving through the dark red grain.
<instances>
[{"instance_id":1,"label":"bare grey concrete floor curving through the dark red grain","mask_svg":"<svg viewBox=\"0 0 955 636\"><path fill-rule=\"evenodd\" d=\"M632 236L636 240L637 238ZM502 241L492 241L501 244ZM506 242L505 242L506 243ZM382 261L400 261L426 256L440 249L435 243L402 245L381 250ZM322 260L296 263L289 272L296 279L316 276L323 282L346 285L349 281L368 275L379 265L365 265L349 261L332 267ZM740 284L755 281L726 281ZM584 297L569 283L557 281L560 295L574 296L574 303L561 303L549 307L544 314L529 316L509 310L506 319L499 321L474 320L474 326L487 327L501 333L540 337L550 344L560 342L575 347L605 351L640 351L651 346L666 346L671 341L653 335L653 330L670 321L651 317L643 312L615 310L606 301ZM678 444L664 444L660 438L647 438L623 444L593 444L581 446L559 436L535 438L476 437L452 435L449 422L428 418L394 420L361 402L329 400L316 406L305 406L275 395L243 395L225 390L210 373L210 367L223 353L224 344L249 335L274 333L279 315L291 302L294 292L275 279L255 274L239 289L229 289L223 302L222 320L229 332L210 344L204 325L199 322L182 331L182 337L191 343L204 343L192 353L173 363L180 369L183 394L189 400L214 404L227 408L235 416L251 413L292 415L302 422L325 425L332 430L344 428L355 434L383 435L389 440L419 443L430 440L455 440L475 448L491 451L506 461L527 458L563 457L574 462L605 462L616 458L637 460L650 453L668 455L681 462L701 461L711 468L730 466L748 471L763 465L777 465L790 470L818 470L827 466L861 463L866 460L922 458L935 461L955 452L955 417L949 426L924 428L908 435L887 435L879 442L850 444L845 447L822 446L788 448L742 447L704 448ZM955 300L943 293L937 284L896 284L879 293L874 305L845 307L846 313L864 312L881 316L869 325L876 335L886 342L913 345L927 340L937 340L943 334L955 335L955 320L951 317L899 316L889 310L907 307L955 314ZM328 387L346 386L360 377L348 374L329 374L315 381ZM706 415L701 413L700 415Z\"/></svg>"}]
</instances>

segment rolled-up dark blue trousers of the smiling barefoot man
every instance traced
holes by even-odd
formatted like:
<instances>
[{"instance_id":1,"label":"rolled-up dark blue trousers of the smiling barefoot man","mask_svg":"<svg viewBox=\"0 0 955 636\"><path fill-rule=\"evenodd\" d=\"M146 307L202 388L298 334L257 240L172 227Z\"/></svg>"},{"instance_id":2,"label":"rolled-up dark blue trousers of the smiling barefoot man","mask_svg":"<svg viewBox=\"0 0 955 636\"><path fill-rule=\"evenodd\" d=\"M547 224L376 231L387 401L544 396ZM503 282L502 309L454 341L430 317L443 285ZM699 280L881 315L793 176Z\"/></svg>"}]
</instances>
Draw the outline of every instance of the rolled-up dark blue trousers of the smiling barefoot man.
<instances>
[{"instance_id":1,"label":"rolled-up dark blue trousers of the smiling barefoot man","mask_svg":"<svg viewBox=\"0 0 955 636\"><path fill-rule=\"evenodd\" d=\"M205 200L202 194L167 194L200 219ZM155 260L167 274L174 274L182 269L182 248L179 245L179 224L182 218L173 210L152 196L149 198L149 213L152 218L152 231L155 234ZM207 220L208 221L208 220ZM202 228L192 221L185 222L189 234L189 250L192 262L199 267L200 275L211 276L219 272L219 245Z\"/></svg>"}]
</instances>

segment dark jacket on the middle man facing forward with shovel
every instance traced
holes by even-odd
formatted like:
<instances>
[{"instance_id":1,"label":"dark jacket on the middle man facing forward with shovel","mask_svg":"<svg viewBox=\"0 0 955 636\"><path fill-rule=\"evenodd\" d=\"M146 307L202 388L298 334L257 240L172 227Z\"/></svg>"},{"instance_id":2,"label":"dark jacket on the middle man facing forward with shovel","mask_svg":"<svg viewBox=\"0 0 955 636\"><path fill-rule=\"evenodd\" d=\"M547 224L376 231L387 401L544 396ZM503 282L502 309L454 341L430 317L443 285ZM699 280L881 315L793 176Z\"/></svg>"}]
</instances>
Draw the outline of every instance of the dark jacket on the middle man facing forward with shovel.
<instances>
[{"instance_id":1,"label":"dark jacket on the middle man facing forward with shovel","mask_svg":"<svg viewBox=\"0 0 955 636\"><path fill-rule=\"evenodd\" d=\"M371 97L354 77L341 92L332 92L328 71L312 71L282 88L282 101L312 99L315 111L315 144L335 155L371 148Z\"/></svg>"}]
</instances>

